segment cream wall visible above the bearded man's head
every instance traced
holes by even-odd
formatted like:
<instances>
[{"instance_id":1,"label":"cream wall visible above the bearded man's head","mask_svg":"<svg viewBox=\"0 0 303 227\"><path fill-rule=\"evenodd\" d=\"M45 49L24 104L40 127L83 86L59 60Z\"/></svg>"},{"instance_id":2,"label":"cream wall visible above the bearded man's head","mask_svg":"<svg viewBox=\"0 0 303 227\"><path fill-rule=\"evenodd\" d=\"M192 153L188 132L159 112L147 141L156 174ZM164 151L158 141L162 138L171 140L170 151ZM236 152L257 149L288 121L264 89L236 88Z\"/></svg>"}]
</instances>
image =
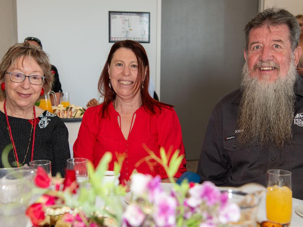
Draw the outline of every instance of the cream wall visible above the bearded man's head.
<instances>
[{"instance_id":1,"label":"cream wall visible above the bearded man's head","mask_svg":"<svg viewBox=\"0 0 303 227\"><path fill-rule=\"evenodd\" d=\"M293 15L303 14L303 0L260 0L261 11L276 5L285 8Z\"/></svg>"}]
</instances>

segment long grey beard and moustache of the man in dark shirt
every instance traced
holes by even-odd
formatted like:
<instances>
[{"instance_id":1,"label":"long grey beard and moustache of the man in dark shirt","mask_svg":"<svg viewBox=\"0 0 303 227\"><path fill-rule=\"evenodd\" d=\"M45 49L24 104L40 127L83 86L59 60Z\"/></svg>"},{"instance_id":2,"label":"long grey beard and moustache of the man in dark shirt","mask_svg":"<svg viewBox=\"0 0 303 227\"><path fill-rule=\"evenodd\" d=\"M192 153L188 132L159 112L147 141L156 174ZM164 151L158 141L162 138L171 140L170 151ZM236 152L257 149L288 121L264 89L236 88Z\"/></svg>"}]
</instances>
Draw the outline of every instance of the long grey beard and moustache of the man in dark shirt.
<instances>
[{"instance_id":1,"label":"long grey beard and moustache of the man in dark shirt","mask_svg":"<svg viewBox=\"0 0 303 227\"><path fill-rule=\"evenodd\" d=\"M293 61L284 77L280 75L279 66L276 67L278 78L275 81L269 81L270 78L259 81L257 77L249 76L257 67L249 72L247 61L244 64L237 118L238 128L243 130L238 137L241 144L282 148L284 143L291 141L297 72Z\"/></svg>"}]
</instances>

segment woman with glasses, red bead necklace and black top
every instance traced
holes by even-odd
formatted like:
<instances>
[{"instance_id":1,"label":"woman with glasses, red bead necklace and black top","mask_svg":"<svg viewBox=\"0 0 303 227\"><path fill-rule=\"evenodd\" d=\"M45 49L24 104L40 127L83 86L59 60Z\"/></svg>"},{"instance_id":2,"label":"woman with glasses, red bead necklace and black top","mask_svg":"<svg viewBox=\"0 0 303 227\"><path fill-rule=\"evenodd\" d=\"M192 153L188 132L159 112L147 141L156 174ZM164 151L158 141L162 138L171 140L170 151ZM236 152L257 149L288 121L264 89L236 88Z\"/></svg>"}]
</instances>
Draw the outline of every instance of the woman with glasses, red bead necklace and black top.
<instances>
[{"instance_id":1,"label":"woman with glasses, red bead necklace and black top","mask_svg":"<svg viewBox=\"0 0 303 227\"><path fill-rule=\"evenodd\" d=\"M0 168L20 167L33 160L50 160L52 175L65 176L70 158L68 130L62 120L35 107L48 93L53 75L42 49L16 43L0 63Z\"/></svg>"}]
</instances>

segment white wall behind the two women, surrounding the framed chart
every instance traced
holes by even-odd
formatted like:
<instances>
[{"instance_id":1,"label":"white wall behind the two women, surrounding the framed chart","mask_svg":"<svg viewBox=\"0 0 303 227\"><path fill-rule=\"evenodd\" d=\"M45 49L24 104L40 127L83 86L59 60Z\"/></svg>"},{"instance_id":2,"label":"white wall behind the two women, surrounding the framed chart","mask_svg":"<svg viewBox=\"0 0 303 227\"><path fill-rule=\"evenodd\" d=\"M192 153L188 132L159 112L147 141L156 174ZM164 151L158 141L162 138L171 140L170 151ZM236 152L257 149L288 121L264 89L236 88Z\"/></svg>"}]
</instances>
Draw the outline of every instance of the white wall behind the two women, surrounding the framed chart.
<instances>
[{"instance_id":1,"label":"white wall behind the two women, surrounding the framed chart","mask_svg":"<svg viewBox=\"0 0 303 227\"><path fill-rule=\"evenodd\" d=\"M161 0L17 0L18 42L39 38L58 69L63 91L70 92L71 104L85 106L97 97L98 79L113 44L108 42L108 11L150 12L150 43L142 45L158 91L159 9Z\"/></svg>"}]
</instances>

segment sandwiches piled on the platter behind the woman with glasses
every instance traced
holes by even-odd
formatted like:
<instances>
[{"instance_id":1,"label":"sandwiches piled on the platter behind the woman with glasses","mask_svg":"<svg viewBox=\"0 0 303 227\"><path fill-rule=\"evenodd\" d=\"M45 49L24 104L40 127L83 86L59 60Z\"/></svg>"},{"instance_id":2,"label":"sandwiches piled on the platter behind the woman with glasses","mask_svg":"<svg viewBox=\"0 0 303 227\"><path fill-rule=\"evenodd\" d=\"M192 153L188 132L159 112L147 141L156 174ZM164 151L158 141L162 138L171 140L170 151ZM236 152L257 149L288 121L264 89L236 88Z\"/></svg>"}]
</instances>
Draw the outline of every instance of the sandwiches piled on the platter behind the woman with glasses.
<instances>
[{"instance_id":1,"label":"sandwiches piled on the platter behind the woman with glasses","mask_svg":"<svg viewBox=\"0 0 303 227\"><path fill-rule=\"evenodd\" d=\"M83 117L85 109L75 105L63 107L62 104L53 107L54 114L61 118L78 118Z\"/></svg>"}]
</instances>

